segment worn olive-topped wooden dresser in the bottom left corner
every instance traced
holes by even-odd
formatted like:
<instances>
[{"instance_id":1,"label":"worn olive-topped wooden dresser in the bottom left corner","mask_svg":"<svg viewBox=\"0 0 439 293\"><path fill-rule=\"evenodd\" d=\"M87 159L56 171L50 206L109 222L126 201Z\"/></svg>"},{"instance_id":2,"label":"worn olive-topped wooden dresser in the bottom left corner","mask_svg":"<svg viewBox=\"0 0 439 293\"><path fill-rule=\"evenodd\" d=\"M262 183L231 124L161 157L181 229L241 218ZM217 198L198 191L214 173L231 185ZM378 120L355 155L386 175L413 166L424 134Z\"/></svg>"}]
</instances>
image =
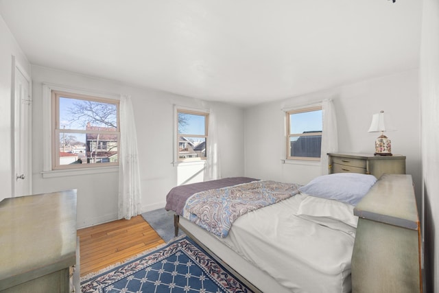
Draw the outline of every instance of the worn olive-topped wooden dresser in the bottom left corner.
<instances>
[{"instance_id":1,"label":"worn olive-topped wooden dresser in the bottom left corner","mask_svg":"<svg viewBox=\"0 0 439 293\"><path fill-rule=\"evenodd\" d=\"M0 292L72 292L76 190L0 202Z\"/></svg>"}]
</instances>

